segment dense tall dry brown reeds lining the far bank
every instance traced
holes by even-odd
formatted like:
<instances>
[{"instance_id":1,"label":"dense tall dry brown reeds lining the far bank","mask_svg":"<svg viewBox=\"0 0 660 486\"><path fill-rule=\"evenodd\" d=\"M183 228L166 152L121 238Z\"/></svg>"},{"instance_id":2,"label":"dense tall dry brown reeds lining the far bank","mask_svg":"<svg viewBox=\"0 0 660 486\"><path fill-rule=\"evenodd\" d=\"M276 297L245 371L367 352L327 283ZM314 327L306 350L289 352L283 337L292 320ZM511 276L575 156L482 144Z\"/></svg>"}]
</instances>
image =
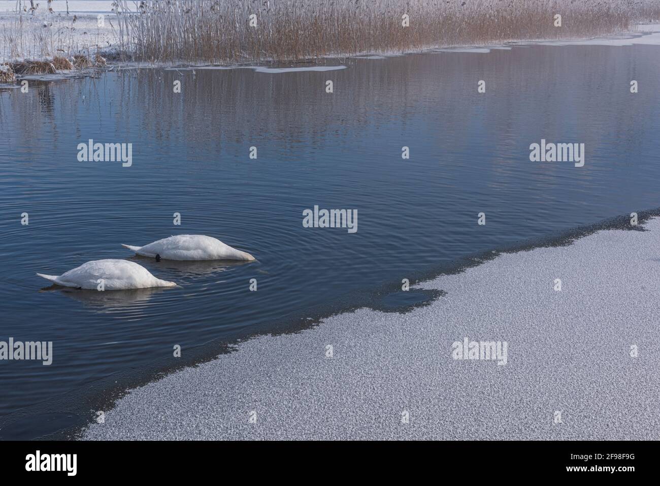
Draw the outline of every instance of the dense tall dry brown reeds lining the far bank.
<instances>
[{"instance_id":1,"label":"dense tall dry brown reeds lining the far bank","mask_svg":"<svg viewBox=\"0 0 660 486\"><path fill-rule=\"evenodd\" d=\"M117 1L120 50L155 62L295 61L584 38L660 18L653 0L158 0L130 14L131 4Z\"/></svg>"}]
</instances>

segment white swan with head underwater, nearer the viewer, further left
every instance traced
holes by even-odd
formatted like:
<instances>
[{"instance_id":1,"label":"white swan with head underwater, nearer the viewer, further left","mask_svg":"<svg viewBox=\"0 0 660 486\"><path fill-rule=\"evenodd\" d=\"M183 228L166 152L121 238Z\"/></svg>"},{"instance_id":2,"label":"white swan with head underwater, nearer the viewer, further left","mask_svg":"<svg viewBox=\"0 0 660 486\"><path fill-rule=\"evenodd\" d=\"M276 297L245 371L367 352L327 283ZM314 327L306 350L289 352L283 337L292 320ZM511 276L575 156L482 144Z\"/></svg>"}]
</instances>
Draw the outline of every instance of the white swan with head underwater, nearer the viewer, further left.
<instances>
[{"instance_id":1,"label":"white swan with head underwater, nearer the viewer, further left","mask_svg":"<svg viewBox=\"0 0 660 486\"><path fill-rule=\"evenodd\" d=\"M94 260L59 276L37 275L65 287L87 289L97 289L100 278L104 280L105 290L176 286L174 282L154 277L144 266L127 260Z\"/></svg>"}]
</instances>

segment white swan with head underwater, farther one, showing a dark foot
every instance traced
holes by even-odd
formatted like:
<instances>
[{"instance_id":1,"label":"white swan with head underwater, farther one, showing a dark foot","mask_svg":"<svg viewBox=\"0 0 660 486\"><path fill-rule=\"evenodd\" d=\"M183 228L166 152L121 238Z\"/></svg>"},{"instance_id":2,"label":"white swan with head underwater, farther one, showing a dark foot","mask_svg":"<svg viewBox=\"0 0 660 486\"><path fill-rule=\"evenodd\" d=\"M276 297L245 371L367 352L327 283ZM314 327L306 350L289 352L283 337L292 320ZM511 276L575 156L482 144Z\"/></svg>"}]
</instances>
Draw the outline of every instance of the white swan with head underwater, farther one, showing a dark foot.
<instances>
[{"instance_id":1,"label":"white swan with head underwater, farther one, showing a dark foot","mask_svg":"<svg viewBox=\"0 0 660 486\"><path fill-rule=\"evenodd\" d=\"M205 235L178 235L159 239L143 247L121 245L144 257L156 260L254 260L244 251L225 245L219 239Z\"/></svg>"}]
</instances>

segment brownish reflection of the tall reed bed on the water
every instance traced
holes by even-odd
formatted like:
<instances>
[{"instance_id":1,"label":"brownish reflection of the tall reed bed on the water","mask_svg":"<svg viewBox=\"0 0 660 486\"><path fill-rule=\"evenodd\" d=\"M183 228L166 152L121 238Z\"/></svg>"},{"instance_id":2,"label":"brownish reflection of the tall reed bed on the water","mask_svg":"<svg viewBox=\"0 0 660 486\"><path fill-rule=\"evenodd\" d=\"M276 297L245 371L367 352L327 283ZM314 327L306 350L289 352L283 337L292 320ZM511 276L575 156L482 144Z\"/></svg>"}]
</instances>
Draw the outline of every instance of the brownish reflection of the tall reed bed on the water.
<instances>
[{"instance_id":1,"label":"brownish reflection of the tall reed bed on the water","mask_svg":"<svg viewBox=\"0 0 660 486\"><path fill-rule=\"evenodd\" d=\"M561 132L569 119L576 137L591 147L612 142L612 136L632 145L652 118L653 103L632 97L630 109L621 112L608 101L628 95L633 61L616 48L572 49L570 56L534 46L490 54L348 59L348 69L327 72L145 69L136 77L129 71L117 76L123 93L117 97L117 126L132 120L156 140L185 143L190 159L209 157L209 147L223 157L225 142L279 143L281 150L296 151L308 141L314 147L360 140L368 130L405 132L419 116L432 122L425 128L437 134L437 155L444 145L469 147L471 138L490 137L500 145L494 153L513 156L521 147L518 140L526 151L544 134ZM607 65L607 83L598 69L582 69L586 63ZM646 69L657 74L657 63ZM333 94L325 93L327 79L334 81ZM479 79L487 81L485 94L477 93ZM182 81L180 95L172 95L174 80ZM154 108L159 116L152 116ZM587 117L594 116L597 132L586 130ZM205 151L197 150L201 146Z\"/></svg>"}]
</instances>

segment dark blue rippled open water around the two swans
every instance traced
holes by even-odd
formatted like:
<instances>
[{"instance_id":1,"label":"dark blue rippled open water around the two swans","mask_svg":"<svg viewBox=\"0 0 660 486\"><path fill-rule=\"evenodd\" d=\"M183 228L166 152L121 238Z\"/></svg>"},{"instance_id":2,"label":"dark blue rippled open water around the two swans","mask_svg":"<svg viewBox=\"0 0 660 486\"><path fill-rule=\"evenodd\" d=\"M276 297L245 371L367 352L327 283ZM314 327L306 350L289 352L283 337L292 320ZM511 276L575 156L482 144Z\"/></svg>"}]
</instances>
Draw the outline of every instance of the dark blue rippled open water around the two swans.
<instances>
[{"instance_id":1,"label":"dark blue rippled open water around the two swans","mask_svg":"<svg viewBox=\"0 0 660 486\"><path fill-rule=\"evenodd\" d=\"M51 366L0 361L0 437L90 420L108 389L415 270L660 206L658 54L533 46L0 89L0 340L53 341ZM133 143L133 165L77 161L90 138ZM530 162L542 138L585 143L584 167ZM314 205L356 209L358 231L304 228ZM183 233L258 261L156 263L119 245ZM180 288L84 292L35 275L105 258Z\"/></svg>"}]
</instances>

